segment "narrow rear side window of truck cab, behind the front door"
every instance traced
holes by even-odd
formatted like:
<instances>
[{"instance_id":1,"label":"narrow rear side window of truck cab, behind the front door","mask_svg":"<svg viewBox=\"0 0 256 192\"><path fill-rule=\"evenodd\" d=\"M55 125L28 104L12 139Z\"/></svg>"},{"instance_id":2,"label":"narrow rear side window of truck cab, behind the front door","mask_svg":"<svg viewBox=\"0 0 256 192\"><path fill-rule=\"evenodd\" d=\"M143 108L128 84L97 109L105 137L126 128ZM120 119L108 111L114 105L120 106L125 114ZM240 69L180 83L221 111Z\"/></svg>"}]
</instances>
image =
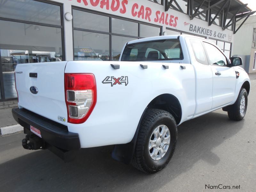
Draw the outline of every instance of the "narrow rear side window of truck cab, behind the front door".
<instances>
[{"instance_id":1,"label":"narrow rear side window of truck cab, behind the front door","mask_svg":"<svg viewBox=\"0 0 256 192\"><path fill-rule=\"evenodd\" d=\"M197 39L191 39L190 43L192 45L192 49L193 49L194 55L196 57L196 60L199 63L208 65L208 61L207 61L207 58L206 58L206 55L204 52L204 47L203 47L201 41L197 40Z\"/></svg>"}]
</instances>

